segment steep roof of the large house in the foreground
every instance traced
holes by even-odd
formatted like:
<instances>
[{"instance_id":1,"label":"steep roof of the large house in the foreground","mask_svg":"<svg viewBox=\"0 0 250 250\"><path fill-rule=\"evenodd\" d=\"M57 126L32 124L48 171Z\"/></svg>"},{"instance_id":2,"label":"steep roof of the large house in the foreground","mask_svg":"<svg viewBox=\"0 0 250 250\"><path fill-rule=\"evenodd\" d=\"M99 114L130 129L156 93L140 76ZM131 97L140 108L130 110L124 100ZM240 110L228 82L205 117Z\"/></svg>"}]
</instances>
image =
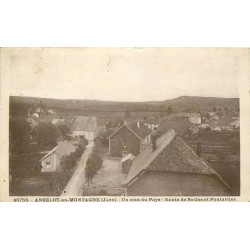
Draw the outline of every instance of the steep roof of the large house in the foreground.
<instances>
[{"instance_id":1,"label":"steep roof of the large house in the foreground","mask_svg":"<svg viewBox=\"0 0 250 250\"><path fill-rule=\"evenodd\" d=\"M156 162L156 160L159 161ZM131 183L145 170L215 174L224 182L208 163L198 157L183 139L176 135L173 129L158 138L154 151L148 147L134 159L126 184Z\"/></svg>"}]
</instances>

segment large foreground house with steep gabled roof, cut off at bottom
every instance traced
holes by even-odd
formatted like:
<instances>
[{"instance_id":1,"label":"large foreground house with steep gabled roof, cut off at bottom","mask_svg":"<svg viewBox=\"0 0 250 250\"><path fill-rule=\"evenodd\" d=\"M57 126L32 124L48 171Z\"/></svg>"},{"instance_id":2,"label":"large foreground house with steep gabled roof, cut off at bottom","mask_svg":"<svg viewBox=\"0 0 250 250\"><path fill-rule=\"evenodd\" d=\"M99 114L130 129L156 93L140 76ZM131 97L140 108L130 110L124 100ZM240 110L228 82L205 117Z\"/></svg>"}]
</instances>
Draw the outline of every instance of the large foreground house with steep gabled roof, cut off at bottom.
<instances>
[{"instance_id":1,"label":"large foreground house with steep gabled roof, cut off at bottom","mask_svg":"<svg viewBox=\"0 0 250 250\"><path fill-rule=\"evenodd\" d=\"M224 196L222 177L170 130L133 161L125 182L128 196Z\"/></svg>"}]
</instances>

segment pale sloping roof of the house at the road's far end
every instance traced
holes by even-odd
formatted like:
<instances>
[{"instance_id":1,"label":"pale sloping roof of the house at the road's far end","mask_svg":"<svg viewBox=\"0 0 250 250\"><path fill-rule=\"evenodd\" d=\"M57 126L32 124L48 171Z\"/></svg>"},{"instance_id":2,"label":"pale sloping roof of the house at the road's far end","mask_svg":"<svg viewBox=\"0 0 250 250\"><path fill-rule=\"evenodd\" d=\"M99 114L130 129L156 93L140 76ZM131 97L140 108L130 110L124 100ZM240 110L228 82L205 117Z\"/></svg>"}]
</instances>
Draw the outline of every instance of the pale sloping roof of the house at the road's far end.
<instances>
[{"instance_id":1,"label":"pale sloping roof of the house at the road's far end","mask_svg":"<svg viewBox=\"0 0 250 250\"><path fill-rule=\"evenodd\" d=\"M96 130L96 117L95 116L77 116L72 121L70 130L94 132Z\"/></svg>"}]
</instances>

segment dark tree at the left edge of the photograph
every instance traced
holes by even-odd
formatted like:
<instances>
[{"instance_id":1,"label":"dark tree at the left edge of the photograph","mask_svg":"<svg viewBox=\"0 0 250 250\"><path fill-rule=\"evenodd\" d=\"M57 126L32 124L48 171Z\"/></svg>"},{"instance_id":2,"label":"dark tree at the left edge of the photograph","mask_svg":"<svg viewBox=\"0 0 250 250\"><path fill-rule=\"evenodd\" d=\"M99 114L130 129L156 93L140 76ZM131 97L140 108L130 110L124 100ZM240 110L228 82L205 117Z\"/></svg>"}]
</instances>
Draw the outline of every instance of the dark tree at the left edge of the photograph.
<instances>
[{"instance_id":1,"label":"dark tree at the left edge of the photograph","mask_svg":"<svg viewBox=\"0 0 250 250\"><path fill-rule=\"evenodd\" d=\"M25 153L29 149L31 127L25 119L10 120L10 152Z\"/></svg>"}]
</instances>

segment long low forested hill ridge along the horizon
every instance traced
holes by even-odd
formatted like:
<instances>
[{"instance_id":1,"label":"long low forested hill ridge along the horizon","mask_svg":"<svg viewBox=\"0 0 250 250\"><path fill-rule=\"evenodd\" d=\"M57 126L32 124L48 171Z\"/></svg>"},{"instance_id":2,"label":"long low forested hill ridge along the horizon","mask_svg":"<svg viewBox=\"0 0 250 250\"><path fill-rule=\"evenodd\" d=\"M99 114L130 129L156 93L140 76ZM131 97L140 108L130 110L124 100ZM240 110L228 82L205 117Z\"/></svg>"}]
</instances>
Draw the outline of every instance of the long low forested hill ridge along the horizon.
<instances>
[{"instance_id":1,"label":"long low forested hill ridge along the horizon","mask_svg":"<svg viewBox=\"0 0 250 250\"><path fill-rule=\"evenodd\" d=\"M98 111L125 111L129 108L131 111L159 111L171 106L178 111L207 111L213 108L239 110L239 98L219 98L219 97L198 97L181 96L165 101L150 102L116 102L99 100L79 100L79 99L50 99L37 97L10 97L10 110L25 110L35 108L39 105L44 108L56 110L98 110Z\"/></svg>"}]
</instances>

